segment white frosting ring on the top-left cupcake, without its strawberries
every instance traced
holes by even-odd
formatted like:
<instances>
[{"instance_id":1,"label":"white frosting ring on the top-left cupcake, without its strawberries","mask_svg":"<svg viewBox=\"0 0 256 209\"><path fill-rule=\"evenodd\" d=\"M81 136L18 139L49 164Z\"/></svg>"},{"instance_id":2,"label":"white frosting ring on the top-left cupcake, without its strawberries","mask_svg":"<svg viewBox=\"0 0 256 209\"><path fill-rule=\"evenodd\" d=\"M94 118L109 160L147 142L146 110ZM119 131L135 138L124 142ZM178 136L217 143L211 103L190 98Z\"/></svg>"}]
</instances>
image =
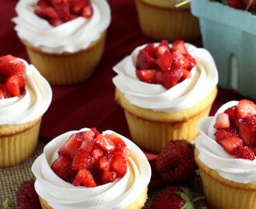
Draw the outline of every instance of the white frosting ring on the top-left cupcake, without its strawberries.
<instances>
[{"instance_id":1,"label":"white frosting ring on the top-left cupcake, without its strawberries","mask_svg":"<svg viewBox=\"0 0 256 209\"><path fill-rule=\"evenodd\" d=\"M20 0L16 5L15 29L20 39L47 53L74 53L83 50L99 38L111 20L106 0L91 0L91 19L78 17L54 27L34 13L38 0Z\"/></svg>"}]
</instances>

